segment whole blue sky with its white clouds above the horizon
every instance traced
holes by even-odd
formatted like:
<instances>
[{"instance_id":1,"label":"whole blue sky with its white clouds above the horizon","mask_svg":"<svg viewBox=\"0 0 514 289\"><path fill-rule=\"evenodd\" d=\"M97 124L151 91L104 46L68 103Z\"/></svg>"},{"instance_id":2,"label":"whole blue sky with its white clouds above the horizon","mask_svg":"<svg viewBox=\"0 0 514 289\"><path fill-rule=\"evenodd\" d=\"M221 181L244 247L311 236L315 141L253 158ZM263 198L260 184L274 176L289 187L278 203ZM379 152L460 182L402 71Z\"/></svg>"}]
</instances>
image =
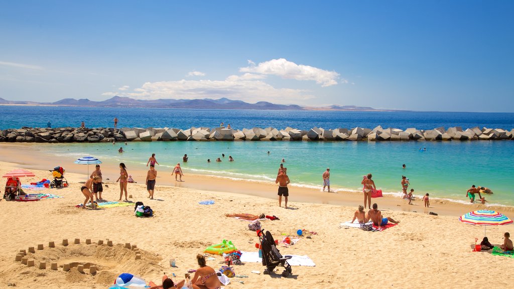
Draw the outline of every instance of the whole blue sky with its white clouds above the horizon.
<instances>
[{"instance_id":1,"label":"whole blue sky with its white clouds above the horizon","mask_svg":"<svg viewBox=\"0 0 514 289\"><path fill-rule=\"evenodd\" d=\"M0 97L514 112L512 1L0 0Z\"/></svg>"}]
</instances>

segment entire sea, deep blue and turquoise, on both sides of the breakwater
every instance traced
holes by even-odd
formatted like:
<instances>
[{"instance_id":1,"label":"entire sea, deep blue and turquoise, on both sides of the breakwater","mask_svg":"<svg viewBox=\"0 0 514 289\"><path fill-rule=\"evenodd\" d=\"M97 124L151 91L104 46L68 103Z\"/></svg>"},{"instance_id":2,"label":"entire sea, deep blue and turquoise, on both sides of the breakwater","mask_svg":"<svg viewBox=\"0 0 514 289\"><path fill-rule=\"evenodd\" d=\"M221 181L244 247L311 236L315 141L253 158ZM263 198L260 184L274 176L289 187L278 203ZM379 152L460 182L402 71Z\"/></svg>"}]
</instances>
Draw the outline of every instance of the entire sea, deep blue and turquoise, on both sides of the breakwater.
<instances>
[{"instance_id":1,"label":"entire sea, deep blue and turquoise, on both sides of the breakwater","mask_svg":"<svg viewBox=\"0 0 514 289\"><path fill-rule=\"evenodd\" d=\"M2 106L0 129L46 127L111 127L118 117L120 127L217 127L221 121L232 128L293 127L433 129L460 126L514 128L513 113L442 113L442 112L335 112L335 111L223 111L167 110L111 107ZM514 180L514 141L433 141L433 142L131 142L126 152L119 154L110 143L70 143L46 145L50 153L81 157L94 155L105 161L125 162L129 168L144 168L148 157L155 153L169 170L182 164L185 172L218 175L229 178L273 181L282 158L295 186L322 187L321 174L331 168L331 189L361 191L362 175L372 173L378 188L390 194L401 192L401 176L410 179L415 195L429 193L432 198L466 201L465 192L471 185L489 187L493 195L486 196L493 204L513 206L511 188ZM426 151L419 151L426 148ZM267 154L270 151L270 154ZM225 154L224 161L215 162ZM228 156L234 162L228 161ZM207 159L211 163L207 163ZM407 169L401 165L406 164ZM65 164L62 164L65 166Z\"/></svg>"}]
</instances>

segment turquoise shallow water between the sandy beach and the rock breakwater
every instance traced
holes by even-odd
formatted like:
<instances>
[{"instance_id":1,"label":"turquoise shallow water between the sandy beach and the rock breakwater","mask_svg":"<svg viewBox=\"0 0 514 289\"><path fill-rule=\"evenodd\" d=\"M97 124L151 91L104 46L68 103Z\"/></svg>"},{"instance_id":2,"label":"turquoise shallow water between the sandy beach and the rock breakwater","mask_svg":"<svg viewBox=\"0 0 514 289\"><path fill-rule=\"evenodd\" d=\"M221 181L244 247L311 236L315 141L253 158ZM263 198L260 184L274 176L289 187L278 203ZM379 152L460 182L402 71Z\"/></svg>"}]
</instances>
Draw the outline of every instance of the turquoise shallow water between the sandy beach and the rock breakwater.
<instances>
[{"instance_id":1,"label":"turquoise shallow water between the sandy beach and the rock breakwater","mask_svg":"<svg viewBox=\"0 0 514 289\"><path fill-rule=\"evenodd\" d=\"M124 146L124 145L123 145ZM144 168L148 157L156 154L160 170L171 171L183 154L185 173L224 175L232 178L274 181L282 158L286 159L293 185L321 189L321 174L331 168L331 188L360 191L362 175L373 174L378 188L386 193L401 192L401 175L410 179L415 195L430 193L431 198L466 201L471 185L491 188L486 196L493 204L513 206L514 141L448 142L131 142L119 154L119 145L110 143L72 143L48 146L48 152L70 156L93 155L102 160L123 161ZM419 151L426 148L426 151ZM270 154L267 154L270 151ZM215 162L225 154L223 162ZM229 162L231 155L235 161ZM207 159L211 163L207 163ZM401 165L406 164L407 169ZM65 164L61 164L65 166Z\"/></svg>"}]
</instances>

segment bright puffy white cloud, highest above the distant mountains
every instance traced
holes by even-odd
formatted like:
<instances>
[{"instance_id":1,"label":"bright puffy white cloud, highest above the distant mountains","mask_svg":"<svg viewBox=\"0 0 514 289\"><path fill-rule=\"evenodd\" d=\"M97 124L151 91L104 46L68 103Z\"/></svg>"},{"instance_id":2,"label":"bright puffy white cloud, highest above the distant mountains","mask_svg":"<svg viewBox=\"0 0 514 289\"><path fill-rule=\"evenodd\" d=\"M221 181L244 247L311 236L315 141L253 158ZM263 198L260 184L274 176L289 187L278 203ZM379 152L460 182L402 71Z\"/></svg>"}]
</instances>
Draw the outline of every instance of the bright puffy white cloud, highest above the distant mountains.
<instances>
[{"instance_id":1,"label":"bright puffy white cloud, highest above the distant mountains","mask_svg":"<svg viewBox=\"0 0 514 289\"><path fill-rule=\"evenodd\" d=\"M321 86L335 85L337 84L337 79L339 79L339 74L336 71L328 71L308 65L298 65L284 58L272 59L261 62L258 65L248 60L248 64L250 66L242 67L239 71L243 73L276 75L285 79L314 80L316 83L321 84Z\"/></svg>"}]
</instances>

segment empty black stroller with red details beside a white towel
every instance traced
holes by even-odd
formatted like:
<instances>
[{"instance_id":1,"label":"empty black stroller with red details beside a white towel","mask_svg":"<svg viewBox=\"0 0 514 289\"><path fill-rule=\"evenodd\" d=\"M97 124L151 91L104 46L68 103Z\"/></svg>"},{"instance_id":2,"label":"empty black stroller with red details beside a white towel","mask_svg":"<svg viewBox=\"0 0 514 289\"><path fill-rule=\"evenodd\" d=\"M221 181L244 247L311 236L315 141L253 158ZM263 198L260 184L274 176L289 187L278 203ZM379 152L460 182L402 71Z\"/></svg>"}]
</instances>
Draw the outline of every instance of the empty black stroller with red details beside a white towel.
<instances>
[{"instance_id":1,"label":"empty black stroller with red details beside a white towel","mask_svg":"<svg viewBox=\"0 0 514 289\"><path fill-rule=\"evenodd\" d=\"M262 246L262 265L266 266L264 274L269 275L275 267L282 266L284 267L282 276L289 276L291 274L291 265L286 260L291 259L291 256L282 256L280 254L279 249L275 245L275 240L269 231L266 231L266 233L264 233L264 229L257 231L257 236L259 236Z\"/></svg>"}]
</instances>

